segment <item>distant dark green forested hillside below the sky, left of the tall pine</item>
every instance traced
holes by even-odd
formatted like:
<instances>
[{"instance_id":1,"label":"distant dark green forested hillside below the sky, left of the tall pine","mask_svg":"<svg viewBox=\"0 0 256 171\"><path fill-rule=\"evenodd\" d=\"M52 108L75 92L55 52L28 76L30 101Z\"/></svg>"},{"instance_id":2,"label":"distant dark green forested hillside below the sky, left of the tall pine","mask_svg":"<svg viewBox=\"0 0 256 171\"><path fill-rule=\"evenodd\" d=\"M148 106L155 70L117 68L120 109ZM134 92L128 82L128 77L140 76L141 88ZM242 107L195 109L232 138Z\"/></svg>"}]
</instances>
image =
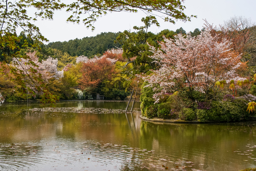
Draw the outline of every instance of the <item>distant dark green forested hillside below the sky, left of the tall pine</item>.
<instances>
[{"instance_id":1,"label":"distant dark green forested hillside below the sky, left of the tall pine","mask_svg":"<svg viewBox=\"0 0 256 171\"><path fill-rule=\"evenodd\" d=\"M84 37L82 39L74 39L64 42L51 42L46 45L47 48L55 48L63 52L67 52L71 56L88 56L93 57L96 54L103 54L111 48L121 48L121 45L114 40L118 33L104 32L94 37Z\"/></svg>"}]
</instances>

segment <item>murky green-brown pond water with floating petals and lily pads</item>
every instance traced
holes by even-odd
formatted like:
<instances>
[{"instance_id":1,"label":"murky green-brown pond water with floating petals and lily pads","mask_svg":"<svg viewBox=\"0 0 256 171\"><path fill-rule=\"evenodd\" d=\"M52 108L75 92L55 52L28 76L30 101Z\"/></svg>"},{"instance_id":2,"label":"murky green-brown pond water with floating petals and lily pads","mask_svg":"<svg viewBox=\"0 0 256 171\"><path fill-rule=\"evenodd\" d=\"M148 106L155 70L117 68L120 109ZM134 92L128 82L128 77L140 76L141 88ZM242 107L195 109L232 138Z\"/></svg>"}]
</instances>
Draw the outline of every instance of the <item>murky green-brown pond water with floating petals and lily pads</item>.
<instances>
[{"instance_id":1,"label":"murky green-brown pond water with floating petals and lily pads","mask_svg":"<svg viewBox=\"0 0 256 171\"><path fill-rule=\"evenodd\" d=\"M0 106L0 170L239 171L256 167L256 122L161 124L127 102ZM163 167L164 166L164 167Z\"/></svg>"}]
</instances>

